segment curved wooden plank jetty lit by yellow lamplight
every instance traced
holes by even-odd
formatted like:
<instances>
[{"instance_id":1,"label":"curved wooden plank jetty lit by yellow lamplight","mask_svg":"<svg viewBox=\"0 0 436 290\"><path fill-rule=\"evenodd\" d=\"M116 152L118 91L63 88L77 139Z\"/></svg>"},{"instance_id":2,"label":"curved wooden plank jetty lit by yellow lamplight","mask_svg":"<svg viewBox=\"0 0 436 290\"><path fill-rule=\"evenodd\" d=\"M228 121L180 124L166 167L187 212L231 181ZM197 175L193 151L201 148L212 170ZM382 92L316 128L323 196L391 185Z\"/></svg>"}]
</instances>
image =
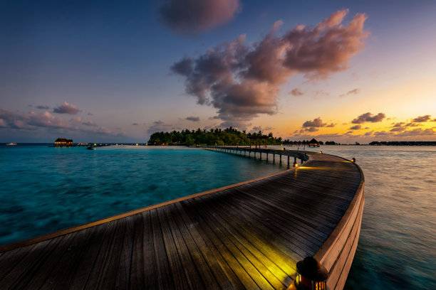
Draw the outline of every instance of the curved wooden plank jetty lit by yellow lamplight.
<instances>
[{"instance_id":1,"label":"curved wooden plank jetty lit by yellow lamplight","mask_svg":"<svg viewBox=\"0 0 436 290\"><path fill-rule=\"evenodd\" d=\"M286 289L307 256L342 289L360 232L360 168L313 152L207 149L303 163L0 247L1 289Z\"/></svg>"}]
</instances>

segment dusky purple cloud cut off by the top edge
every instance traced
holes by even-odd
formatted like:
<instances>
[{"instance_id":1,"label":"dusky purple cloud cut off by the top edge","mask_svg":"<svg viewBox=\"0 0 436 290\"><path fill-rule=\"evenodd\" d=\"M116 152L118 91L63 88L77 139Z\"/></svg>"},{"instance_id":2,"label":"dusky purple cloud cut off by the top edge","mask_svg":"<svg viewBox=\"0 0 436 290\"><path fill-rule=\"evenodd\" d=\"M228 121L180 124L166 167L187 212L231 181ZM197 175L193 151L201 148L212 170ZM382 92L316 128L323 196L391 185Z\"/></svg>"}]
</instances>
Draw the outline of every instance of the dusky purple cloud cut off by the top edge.
<instances>
[{"instance_id":1,"label":"dusky purple cloud cut off by the top edge","mask_svg":"<svg viewBox=\"0 0 436 290\"><path fill-rule=\"evenodd\" d=\"M159 12L176 33L193 34L231 21L239 8L238 0L165 0Z\"/></svg>"}]
</instances>

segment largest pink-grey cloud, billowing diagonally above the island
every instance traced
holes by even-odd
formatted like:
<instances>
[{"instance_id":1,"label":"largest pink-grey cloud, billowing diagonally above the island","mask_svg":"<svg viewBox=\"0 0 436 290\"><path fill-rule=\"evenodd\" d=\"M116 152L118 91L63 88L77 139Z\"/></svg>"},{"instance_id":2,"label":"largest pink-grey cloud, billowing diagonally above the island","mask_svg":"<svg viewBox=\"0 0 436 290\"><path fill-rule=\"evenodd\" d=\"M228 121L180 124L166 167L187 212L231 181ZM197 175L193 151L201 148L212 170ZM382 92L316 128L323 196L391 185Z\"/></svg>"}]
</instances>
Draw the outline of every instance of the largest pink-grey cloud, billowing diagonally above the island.
<instances>
[{"instance_id":1,"label":"largest pink-grey cloud, billowing diagonally above the island","mask_svg":"<svg viewBox=\"0 0 436 290\"><path fill-rule=\"evenodd\" d=\"M274 23L259 43L245 36L210 48L197 58L184 58L171 70L185 77L187 94L217 109L223 124L246 124L259 114L275 114L279 86L296 73L314 80L346 70L348 60L363 50L369 33L366 16L356 14L343 24L348 9L337 11L317 26L296 26L278 36Z\"/></svg>"}]
</instances>

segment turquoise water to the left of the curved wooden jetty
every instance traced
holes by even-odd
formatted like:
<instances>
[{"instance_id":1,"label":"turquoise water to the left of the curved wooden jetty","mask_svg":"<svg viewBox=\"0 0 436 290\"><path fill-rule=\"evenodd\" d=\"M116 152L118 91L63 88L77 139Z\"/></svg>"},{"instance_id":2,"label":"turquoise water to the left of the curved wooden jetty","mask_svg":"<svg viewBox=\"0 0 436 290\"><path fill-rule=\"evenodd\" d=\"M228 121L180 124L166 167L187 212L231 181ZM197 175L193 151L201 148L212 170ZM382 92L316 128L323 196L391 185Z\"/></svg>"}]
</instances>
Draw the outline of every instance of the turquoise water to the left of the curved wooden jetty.
<instances>
[{"instance_id":1,"label":"turquoise water to the left of the curved wooden jetty","mask_svg":"<svg viewBox=\"0 0 436 290\"><path fill-rule=\"evenodd\" d=\"M283 169L187 147L0 146L0 245Z\"/></svg>"}]
</instances>

